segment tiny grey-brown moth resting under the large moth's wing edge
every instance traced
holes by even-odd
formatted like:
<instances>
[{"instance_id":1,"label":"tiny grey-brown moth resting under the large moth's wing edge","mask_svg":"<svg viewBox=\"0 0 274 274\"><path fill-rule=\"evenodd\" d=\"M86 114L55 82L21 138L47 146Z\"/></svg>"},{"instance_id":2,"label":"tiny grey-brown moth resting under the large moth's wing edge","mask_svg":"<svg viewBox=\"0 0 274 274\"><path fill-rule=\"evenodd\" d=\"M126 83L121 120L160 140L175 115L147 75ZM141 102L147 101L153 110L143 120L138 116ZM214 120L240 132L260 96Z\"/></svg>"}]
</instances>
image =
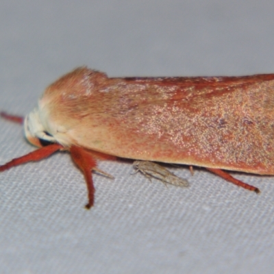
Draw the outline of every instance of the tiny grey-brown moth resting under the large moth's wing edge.
<instances>
[{"instance_id":1,"label":"tiny grey-brown moth resting under the large moth's wing edge","mask_svg":"<svg viewBox=\"0 0 274 274\"><path fill-rule=\"evenodd\" d=\"M186 179L181 179L164 168L164 166L160 166L160 164L156 164L155 162L149 161L134 161L133 163L134 169L137 169L137 172L140 171L149 179L151 177L155 177L156 179L160 179L164 184L173 184L173 186L188 186L188 181Z\"/></svg>"}]
</instances>

